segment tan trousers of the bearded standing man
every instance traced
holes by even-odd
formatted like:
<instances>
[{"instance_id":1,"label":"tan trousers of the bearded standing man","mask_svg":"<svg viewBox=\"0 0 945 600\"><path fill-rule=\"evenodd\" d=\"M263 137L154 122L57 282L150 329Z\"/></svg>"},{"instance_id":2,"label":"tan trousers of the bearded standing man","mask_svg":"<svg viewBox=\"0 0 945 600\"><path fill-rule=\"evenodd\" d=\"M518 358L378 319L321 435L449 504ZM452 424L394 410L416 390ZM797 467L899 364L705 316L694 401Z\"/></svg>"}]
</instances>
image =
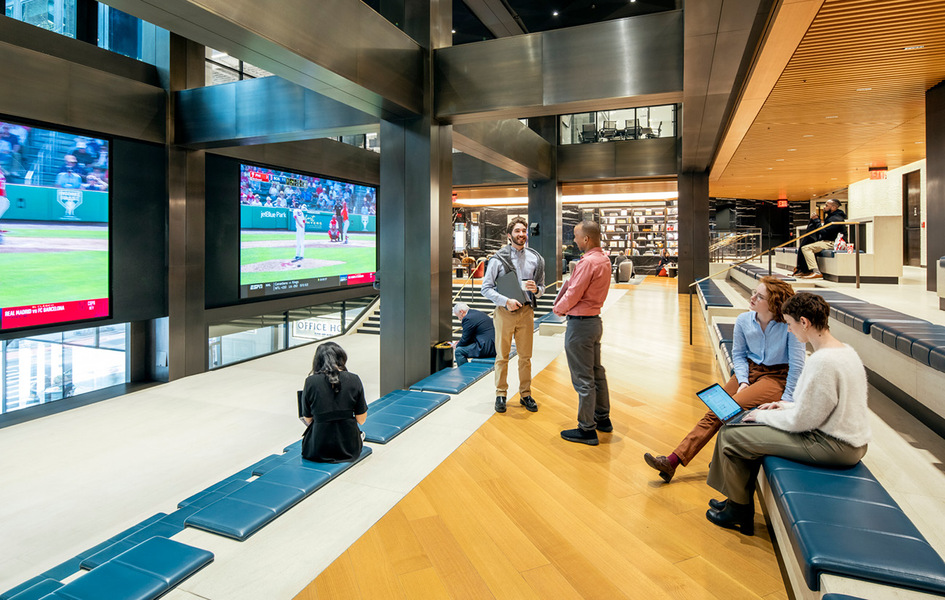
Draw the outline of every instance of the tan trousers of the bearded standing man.
<instances>
[{"instance_id":1,"label":"tan trousers of the bearded standing man","mask_svg":"<svg viewBox=\"0 0 945 600\"><path fill-rule=\"evenodd\" d=\"M532 395L532 337L535 334L535 311L531 304L510 312L503 306L495 309L495 395L508 396L509 352L512 338L518 351L518 391Z\"/></svg>"}]
</instances>

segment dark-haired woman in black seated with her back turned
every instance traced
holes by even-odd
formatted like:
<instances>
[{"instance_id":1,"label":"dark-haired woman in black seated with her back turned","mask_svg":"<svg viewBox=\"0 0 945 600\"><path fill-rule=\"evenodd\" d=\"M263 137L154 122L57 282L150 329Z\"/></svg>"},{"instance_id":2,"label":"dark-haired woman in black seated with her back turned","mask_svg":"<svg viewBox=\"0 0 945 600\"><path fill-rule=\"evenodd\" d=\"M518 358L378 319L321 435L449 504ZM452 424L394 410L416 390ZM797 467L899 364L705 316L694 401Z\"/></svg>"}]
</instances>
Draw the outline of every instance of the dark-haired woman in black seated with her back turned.
<instances>
[{"instance_id":1,"label":"dark-haired woman in black seated with her back turned","mask_svg":"<svg viewBox=\"0 0 945 600\"><path fill-rule=\"evenodd\" d=\"M315 350L312 372L302 390L302 458L315 462L347 462L361 455L359 424L367 419L361 379L345 368L348 355L335 342Z\"/></svg>"}]
</instances>

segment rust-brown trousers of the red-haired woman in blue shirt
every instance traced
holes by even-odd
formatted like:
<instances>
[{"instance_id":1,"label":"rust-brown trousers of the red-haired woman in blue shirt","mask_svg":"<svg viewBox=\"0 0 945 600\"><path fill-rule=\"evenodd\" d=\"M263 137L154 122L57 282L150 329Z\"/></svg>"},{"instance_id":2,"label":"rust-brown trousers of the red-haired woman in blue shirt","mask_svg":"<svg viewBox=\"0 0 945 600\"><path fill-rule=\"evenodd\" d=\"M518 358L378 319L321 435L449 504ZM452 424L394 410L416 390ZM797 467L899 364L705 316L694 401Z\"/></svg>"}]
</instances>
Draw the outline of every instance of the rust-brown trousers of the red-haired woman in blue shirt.
<instances>
[{"instance_id":1,"label":"rust-brown trousers of the red-haired woman in blue shirt","mask_svg":"<svg viewBox=\"0 0 945 600\"><path fill-rule=\"evenodd\" d=\"M738 380L732 375L724 386L722 386L728 395L738 402L742 408L754 408L766 402L777 402L784 393L784 384L787 382L787 365L756 365L748 361L748 387L741 392L738 390ZM709 443L719 428L722 427L722 421L715 416L715 413L709 411L702 417L702 420L696 423L679 446L673 450L673 453L679 458L684 466L689 464L696 454Z\"/></svg>"}]
</instances>

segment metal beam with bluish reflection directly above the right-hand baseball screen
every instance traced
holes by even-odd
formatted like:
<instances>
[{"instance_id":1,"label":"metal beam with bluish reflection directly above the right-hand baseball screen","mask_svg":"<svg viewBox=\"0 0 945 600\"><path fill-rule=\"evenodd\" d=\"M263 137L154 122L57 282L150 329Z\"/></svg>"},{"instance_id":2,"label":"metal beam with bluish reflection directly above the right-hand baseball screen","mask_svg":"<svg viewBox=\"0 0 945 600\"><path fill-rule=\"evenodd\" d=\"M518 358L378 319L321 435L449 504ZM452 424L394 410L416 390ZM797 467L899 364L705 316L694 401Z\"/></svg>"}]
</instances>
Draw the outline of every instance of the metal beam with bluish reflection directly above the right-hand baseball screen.
<instances>
[{"instance_id":1,"label":"metal beam with bluish reflection directly above the right-hand baseball screen","mask_svg":"<svg viewBox=\"0 0 945 600\"><path fill-rule=\"evenodd\" d=\"M220 148L380 131L377 117L280 77L174 94L175 143Z\"/></svg>"}]
</instances>

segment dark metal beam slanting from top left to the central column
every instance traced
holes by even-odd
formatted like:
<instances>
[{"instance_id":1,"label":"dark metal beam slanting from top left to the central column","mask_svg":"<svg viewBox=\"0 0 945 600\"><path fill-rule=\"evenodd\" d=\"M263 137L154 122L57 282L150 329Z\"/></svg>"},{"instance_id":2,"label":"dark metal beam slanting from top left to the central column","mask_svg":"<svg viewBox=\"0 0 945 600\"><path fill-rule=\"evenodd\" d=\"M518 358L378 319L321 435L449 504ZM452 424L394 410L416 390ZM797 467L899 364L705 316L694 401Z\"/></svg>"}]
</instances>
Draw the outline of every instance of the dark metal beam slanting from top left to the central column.
<instances>
[{"instance_id":1,"label":"dark metal beam slanting from top left to the central column","mask_svg":"<svg viewBox=\"0 0 945 600\"><path fill-rule=\"evenodd\" d=\"M106 4L375 117L421 112L419 45L358 0Z\"/></svg>"}]
</instances>

